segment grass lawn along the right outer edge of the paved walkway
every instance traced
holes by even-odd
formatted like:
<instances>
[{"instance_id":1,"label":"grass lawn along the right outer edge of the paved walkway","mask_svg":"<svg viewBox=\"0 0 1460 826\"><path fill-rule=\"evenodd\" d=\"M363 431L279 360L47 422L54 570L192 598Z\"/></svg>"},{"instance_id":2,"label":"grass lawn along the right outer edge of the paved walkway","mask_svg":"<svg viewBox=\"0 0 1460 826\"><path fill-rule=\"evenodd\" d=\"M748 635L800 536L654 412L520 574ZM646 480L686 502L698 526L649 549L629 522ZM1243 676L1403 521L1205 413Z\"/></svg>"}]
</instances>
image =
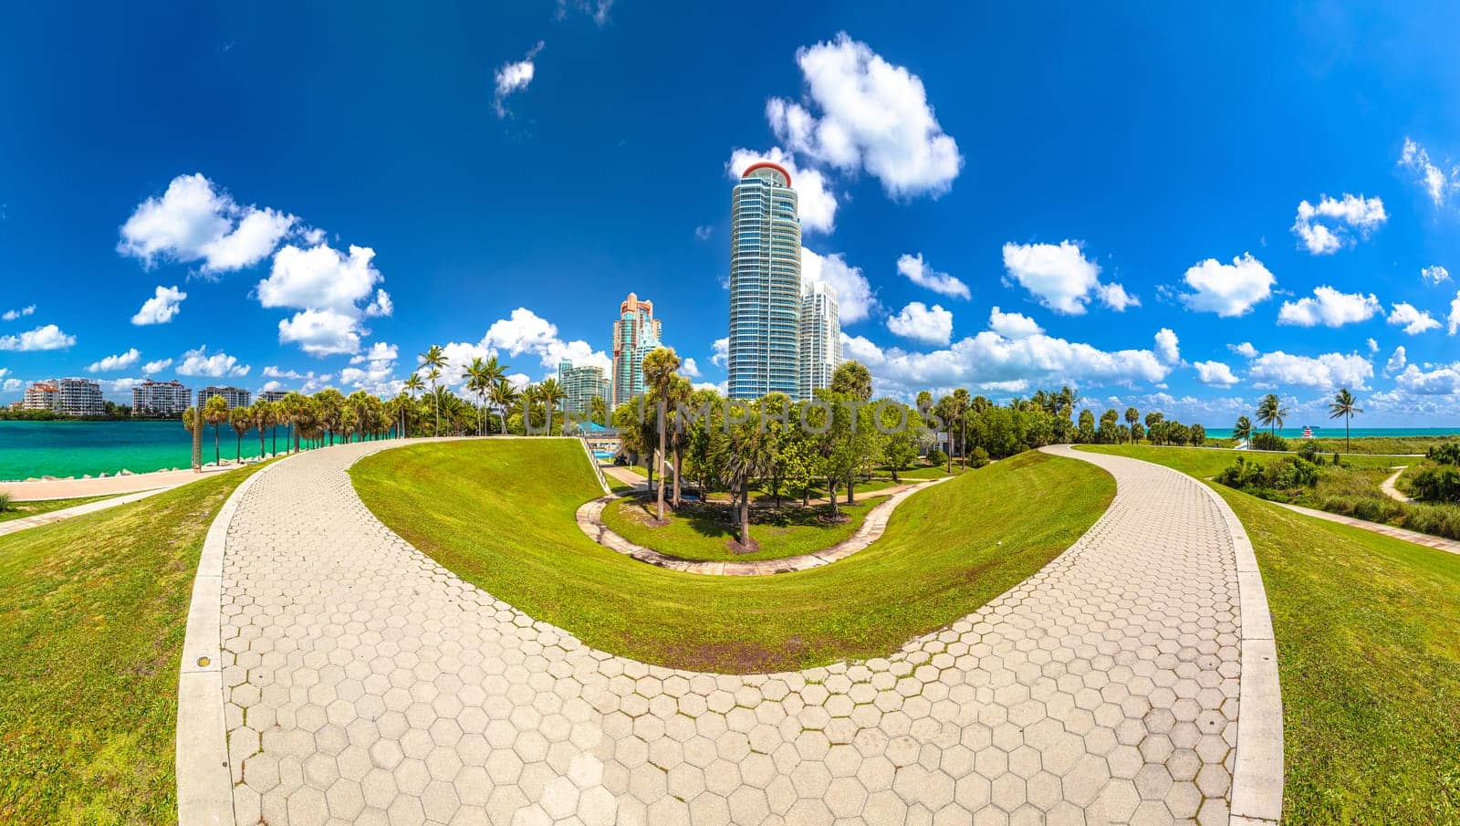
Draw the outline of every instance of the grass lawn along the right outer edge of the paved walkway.
<instances>
[{"instance_id":1,"label":"grass lawn along the right outer edge of the paved walkway","mask_svg":"<svg viewBox=\"0 0 1460 826\"><path fill-rule=\"evenodd\" d=\"M1091 449L1177 470L1199 452ZM1460 823L1460 556L1213 489L1273 614L1283 823Z\"/></svg>"}]
</instances>

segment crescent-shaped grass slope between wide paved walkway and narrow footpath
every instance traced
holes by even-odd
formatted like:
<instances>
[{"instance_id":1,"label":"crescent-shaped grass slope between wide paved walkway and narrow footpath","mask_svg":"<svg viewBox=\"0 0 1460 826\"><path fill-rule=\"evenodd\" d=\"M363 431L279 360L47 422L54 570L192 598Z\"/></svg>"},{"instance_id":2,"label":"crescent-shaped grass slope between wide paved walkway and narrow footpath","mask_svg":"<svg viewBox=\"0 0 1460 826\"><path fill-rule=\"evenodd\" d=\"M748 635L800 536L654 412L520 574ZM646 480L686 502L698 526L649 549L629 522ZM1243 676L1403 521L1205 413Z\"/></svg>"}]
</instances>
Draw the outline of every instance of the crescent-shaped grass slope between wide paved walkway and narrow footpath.
<instances>
[{"instance_id":1,"label":"crescent-shaped grass slope between wide paved walkway and narrow footpath","mask_svg":"<svg viewBox=\"0 0 1460 826\"><path fill-rule=\"evenodd\" d=\"M850 559L721 578L644 565L585 537L574 512L602 490L572 444L412 445L361 460L350 477L402 537L527 614L603 651L726 673L896 651L1042 568L1115 487L1094 466L1029 452L911 496L882 540Z\"/></svg>"}]
</instances>

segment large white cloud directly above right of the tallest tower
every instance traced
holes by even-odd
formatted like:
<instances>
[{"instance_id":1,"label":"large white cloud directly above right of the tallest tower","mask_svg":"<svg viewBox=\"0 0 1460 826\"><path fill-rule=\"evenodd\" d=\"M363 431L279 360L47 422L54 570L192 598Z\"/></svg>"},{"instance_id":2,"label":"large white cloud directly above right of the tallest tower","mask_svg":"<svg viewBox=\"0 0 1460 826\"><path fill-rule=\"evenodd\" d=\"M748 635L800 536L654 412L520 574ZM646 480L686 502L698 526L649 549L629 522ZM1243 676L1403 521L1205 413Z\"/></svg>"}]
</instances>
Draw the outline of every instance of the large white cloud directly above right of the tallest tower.
<instances>
[{"instance_id":1,"label":"large white cloud directly above right of the tallest tower","mask_svg":"<svg viewBox=\"0 0 1460 826\"><path fill-rule=\"evenodd\" d=\"M892 197L936 197L952 187L964 158L917 74L845 32L797 50L796 63L806 105L771 98L765 107L771 128L793 152L848 172L866 169Z\"/></svg>"}]
</instances>

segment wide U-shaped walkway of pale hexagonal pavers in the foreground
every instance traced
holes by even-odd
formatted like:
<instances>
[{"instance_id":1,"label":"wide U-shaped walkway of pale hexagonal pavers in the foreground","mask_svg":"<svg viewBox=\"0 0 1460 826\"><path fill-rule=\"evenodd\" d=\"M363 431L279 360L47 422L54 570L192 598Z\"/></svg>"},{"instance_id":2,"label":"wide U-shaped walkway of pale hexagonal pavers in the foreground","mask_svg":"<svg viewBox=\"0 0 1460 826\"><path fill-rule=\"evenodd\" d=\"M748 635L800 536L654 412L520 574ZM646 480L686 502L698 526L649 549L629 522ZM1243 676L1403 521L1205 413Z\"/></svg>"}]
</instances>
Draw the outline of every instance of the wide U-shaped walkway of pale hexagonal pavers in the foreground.
<instances>
[{"instance_id":1,"label":"wide U-shaped walkway of pale hexagonal pavers in the foreground","mask_svg":"<svg viewBox=\"0 0 1460 826\"><path fill-rule=\"evenodd\" d=\"M1177 471L1056 449L1118 492L1028 581L885 658L715 676L587 648L416 552L346 473L385 447L274 464L215 522L184 655L182 826L1279 814L1250 547ZM231 785L210 787L225 762Z\"/></svg>"}]
</instances>

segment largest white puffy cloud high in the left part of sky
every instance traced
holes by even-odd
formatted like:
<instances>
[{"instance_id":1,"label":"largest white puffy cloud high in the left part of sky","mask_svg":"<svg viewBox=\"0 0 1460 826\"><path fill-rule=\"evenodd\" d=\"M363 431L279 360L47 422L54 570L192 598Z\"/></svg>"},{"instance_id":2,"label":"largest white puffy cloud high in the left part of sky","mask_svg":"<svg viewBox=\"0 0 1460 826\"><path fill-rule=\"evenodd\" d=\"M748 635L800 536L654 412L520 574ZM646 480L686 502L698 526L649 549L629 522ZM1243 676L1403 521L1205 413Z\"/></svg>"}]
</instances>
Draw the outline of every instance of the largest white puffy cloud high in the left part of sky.
<instances>
[{"instance_id":1,"label":"largest white puffy cloud high in the left part of sky","mask_svg":"<svg viewBox=\"0 0 1460 826\"><path fill-rule=\"evenodd\" d=\"M292 215L239 206L200 174L178 175L161 197L150 197L121 226L117 251L161 261L203 261L203 273L251 267L269 257L298 225Z\"/></svg>"}]
</instances>

